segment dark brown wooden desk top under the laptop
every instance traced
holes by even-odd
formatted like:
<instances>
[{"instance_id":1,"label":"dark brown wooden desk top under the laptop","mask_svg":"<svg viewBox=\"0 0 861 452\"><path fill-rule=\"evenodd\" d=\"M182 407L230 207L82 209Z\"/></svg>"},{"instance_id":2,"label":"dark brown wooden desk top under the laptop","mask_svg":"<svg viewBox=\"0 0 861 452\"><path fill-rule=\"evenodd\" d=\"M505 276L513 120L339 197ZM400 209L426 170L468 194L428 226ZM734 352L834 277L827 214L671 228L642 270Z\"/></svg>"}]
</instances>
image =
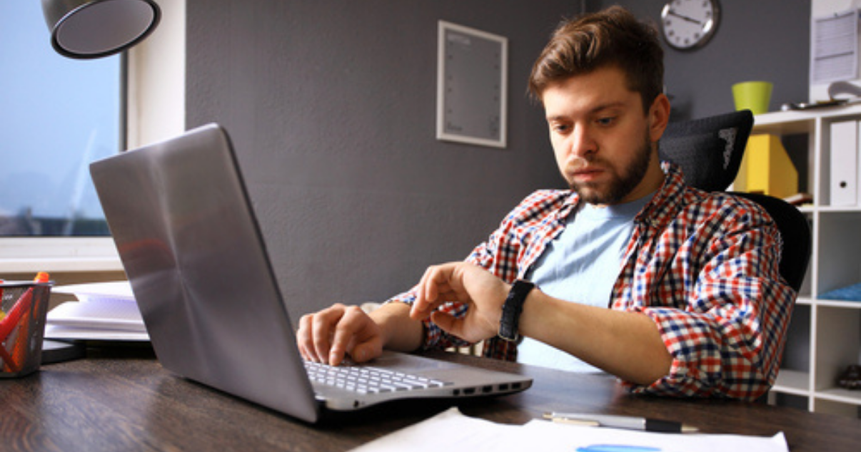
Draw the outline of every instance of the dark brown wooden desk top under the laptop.
<instances>
[{"instance_id":1,"label":"dark brown wooden desk top under the laptop","mask_svg":"<svg viewBox=\"0 0 861 452\"><path fill-rule=\"evenodd\" d=\"M277 412L177 378L151 351L99 351L0 380L0 449L12 450L347 450L428 418L447 406L404 402L306 425ZM463 355L439 357L523 372L533 388L465 401L469 416L523 424L548 411L603 412L683 420L703 432L771 436L790 450L852 451L861 420L794 408L625 394L611 377L584 376Z\"/></svg>"}]
</instances>

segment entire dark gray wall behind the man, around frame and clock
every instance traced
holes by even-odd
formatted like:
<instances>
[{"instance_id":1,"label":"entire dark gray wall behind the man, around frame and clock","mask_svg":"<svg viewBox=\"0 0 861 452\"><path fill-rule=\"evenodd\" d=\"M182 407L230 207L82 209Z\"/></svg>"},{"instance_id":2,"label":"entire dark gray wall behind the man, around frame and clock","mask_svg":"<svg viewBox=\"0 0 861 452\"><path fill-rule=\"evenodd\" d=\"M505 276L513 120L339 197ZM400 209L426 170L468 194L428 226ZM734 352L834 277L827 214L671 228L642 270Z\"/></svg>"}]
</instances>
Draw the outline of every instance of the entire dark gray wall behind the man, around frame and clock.
<instances>
[{"instance_id":1,"label":"entire dark gray wall behind the man, around frame and clock","mask_svg":"<svg viewBox=\"0 0 861 452\"><path fill-rule=\"evenodd\" d=\"M663 2L620 3L657 20ZM722 3L709 46L667 51L674 119L733 109L729 86L752 78L776 82L774 102L805 99L809 1ZM188 0L186 125L231 132L294 316L404 290L530 191L560 186L525 82L579 4ZM438 20L509 38L507 149L435 139Z\"/></svg>"}]
</instances>

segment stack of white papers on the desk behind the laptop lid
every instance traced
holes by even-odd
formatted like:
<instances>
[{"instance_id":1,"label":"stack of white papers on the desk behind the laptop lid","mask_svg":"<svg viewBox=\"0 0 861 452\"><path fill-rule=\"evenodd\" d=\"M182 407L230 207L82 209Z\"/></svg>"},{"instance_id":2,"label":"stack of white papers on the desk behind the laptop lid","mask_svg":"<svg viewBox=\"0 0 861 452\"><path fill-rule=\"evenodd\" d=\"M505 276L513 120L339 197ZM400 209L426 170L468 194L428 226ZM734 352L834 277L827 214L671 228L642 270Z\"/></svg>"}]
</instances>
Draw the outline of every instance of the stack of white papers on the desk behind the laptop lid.
<instances>
[{"instance_id":1,"label":"stack of white papers on the desk behind the laptop lid","mask_svg":"<svg viewBox=\"0 0 861 452\"><path fill-rule=\"evenodd\" d=\"M53 292L72 294L48 312L46 339L146 341L144 321L127 281L58 286Z\"/></svg>"}]
</instances>

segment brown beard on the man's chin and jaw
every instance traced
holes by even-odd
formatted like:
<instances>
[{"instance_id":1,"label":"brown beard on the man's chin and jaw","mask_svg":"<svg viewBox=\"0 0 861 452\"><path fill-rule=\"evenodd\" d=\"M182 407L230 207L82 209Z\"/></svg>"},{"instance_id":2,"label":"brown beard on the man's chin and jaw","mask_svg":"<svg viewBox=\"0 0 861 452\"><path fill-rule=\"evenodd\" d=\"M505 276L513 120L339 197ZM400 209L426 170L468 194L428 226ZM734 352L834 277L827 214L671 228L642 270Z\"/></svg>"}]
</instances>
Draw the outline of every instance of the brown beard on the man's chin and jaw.
<instances>
[{"instance_id":1,"label":"brown beard on the man's chin and jaw","mask_svg":"<svg viewBox=\"0 0 861 452\"><path fill-rule=\"evenodd\" d=\"M571 181L568 185L577 192L580 199L592 205L613 205L619 203L636 186L640 184L648 170L649 162L652 160L652 143L646 133L640 147L635 151L634 160L628 168L623 168L623 174L615 174L609 185L602 192L599 184L595 182ZM600 162L589 159L590 163ZM606 167L605 168L612 168Z\"/></svg>"}]
</instances>

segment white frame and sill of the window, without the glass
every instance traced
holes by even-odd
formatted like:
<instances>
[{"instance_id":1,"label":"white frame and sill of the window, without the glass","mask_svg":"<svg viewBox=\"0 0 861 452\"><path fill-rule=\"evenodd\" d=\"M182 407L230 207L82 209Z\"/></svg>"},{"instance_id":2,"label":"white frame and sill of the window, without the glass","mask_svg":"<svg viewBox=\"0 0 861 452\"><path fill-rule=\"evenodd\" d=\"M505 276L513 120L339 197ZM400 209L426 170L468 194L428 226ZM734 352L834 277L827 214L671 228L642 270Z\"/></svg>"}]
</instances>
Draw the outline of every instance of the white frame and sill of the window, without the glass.
<instances>
[{"instance_id":1,"label":"white frame and sill of the window, without the glass","mask_svg":"<svg viewBox=\"0 0 861 452\"><path fill-rule=\"evenodd\" d=\"M121 53L122 150L185 129L185 1L159 0L158 28ZM110 235L0 237L0 274L122 270Z\"/></svg>"}]
</instances>

